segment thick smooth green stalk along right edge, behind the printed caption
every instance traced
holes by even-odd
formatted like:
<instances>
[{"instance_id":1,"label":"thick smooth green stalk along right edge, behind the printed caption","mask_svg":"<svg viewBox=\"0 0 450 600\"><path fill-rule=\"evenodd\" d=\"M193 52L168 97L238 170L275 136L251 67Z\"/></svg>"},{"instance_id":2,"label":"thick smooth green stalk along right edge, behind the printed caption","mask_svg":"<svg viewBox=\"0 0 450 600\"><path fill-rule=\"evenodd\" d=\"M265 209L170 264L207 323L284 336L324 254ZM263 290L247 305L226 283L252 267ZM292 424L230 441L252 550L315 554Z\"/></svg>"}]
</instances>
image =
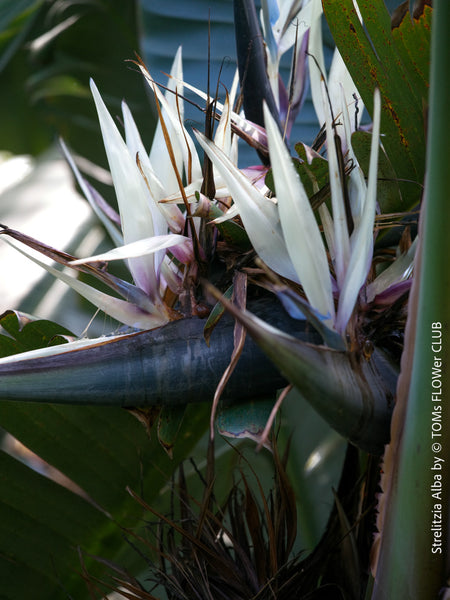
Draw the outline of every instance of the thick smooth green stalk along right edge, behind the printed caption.
<instances>
[{"instance_id":1,"label":"thick smooth green stalk along right edge, behind the printed caption","mask_svg":"<svg viewBox=\"0 0 450 600\"><path fill-rule=\"evenodd\" d=\"M438 598L448 577L450 466L450 54L446 0L434 3L425 198L372 600ZM412 368L411 368L412 366Z\"/></svg>"}]
</instances>

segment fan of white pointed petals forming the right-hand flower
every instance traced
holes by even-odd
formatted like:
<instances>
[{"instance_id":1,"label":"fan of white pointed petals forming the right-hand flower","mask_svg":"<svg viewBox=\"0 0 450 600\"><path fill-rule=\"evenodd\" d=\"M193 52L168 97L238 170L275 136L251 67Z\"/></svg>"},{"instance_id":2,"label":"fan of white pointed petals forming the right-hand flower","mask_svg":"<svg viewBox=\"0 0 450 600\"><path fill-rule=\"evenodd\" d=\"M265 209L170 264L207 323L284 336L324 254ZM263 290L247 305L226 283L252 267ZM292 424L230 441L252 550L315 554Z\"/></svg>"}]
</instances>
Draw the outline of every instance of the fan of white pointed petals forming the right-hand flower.
<instances>
[{"instance_id":1,"label":"fan of white pointed petals forming the right-hand flower","mask_svg":"<svg viewBox=\"0 0 450 600\"><path fill-rule=\"evenodd\" d=\"M374 96L369 180L367 185L363 178L358 181L361 197L353 203L358 220L351 233L346 222L343 182L339 179L333 121L330 111L326 112L332 215L326 209L321 216L328 253L333 257L332 271L308 196L266 106L264 116L276 199L267 198L255 188L204 136L197 134L198 140L226 181L256 252L279 275L299 283L326 327L344 336L372 259L380 141L379 92Z\"/></svg>"}]
</instances>

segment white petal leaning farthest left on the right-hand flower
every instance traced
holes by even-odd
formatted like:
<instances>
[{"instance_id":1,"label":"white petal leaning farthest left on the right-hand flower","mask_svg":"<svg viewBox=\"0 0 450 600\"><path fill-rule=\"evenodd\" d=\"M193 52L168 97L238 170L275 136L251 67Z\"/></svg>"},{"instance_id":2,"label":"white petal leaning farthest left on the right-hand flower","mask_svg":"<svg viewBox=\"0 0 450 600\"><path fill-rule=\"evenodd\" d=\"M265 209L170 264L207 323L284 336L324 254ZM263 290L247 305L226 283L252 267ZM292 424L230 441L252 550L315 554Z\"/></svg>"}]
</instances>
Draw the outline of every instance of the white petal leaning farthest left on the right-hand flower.
<instances>
[{"instance_id":1,"label":"white petal leaning farthest left on the right-hand flower","mask_svg":"<svg viewBox=\"0 0 450 600\"><path fill-rule=\"evenodd\" d=\"M256 252L271 269L298 281L283 239L277 207L210 140L198 131L195 135L223 177Z\"/></svg>"}]
</instances>

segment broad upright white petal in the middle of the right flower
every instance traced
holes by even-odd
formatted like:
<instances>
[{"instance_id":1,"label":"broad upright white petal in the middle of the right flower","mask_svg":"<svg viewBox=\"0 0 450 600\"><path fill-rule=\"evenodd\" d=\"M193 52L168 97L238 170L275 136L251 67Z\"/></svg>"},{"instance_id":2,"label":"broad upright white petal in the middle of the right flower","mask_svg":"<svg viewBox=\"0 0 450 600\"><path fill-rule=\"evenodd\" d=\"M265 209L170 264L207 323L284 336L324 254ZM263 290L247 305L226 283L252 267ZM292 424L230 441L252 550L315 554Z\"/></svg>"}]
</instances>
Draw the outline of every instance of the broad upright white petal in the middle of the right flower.
<instances>
[{"instance_id":1,"label":"broad upright white petal in the middle of the right flower","mask_svg":"<svg viewBox=\"0 0 450 600\"><path fill-rule=\"evenodd\" d=\"M289 256L309 303L332 328L334 303L322 235L290 154L266 105L264 120L281 227Z\"/></svg>"}]
</instances>

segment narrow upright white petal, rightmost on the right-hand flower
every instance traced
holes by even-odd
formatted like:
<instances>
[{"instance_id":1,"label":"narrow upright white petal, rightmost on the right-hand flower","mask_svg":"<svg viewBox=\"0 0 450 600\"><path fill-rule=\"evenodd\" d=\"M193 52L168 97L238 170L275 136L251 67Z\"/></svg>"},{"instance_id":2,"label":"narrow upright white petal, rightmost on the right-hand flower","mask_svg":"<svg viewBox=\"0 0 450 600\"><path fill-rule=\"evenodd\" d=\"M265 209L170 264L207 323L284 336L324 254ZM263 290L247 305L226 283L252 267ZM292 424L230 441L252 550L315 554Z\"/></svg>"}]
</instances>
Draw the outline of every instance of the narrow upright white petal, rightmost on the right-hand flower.
<instances>
[{"instance_id":1,"label":"narrow upright white petal, rightmost on the right-hand flower","mask_svg":"<svg viewBox=\"0 0 450 600\"><path fill-rule=\"evenodd\" d=\"M361 222L358 229L354 232L355 241L352 248L352 254L348 264L345 281L339 296L336 328L340 332L344 332L345 327L347 326L359 291L367 279L367 274L370 269L373 255L373 226L375 222L377 199L378 150L380 145L381 114L381 99L380 91L378 89L375 90L374 94L373 113L372 143L370 148L367 194L364 202Z\"/></svg>"}]
</instances>

